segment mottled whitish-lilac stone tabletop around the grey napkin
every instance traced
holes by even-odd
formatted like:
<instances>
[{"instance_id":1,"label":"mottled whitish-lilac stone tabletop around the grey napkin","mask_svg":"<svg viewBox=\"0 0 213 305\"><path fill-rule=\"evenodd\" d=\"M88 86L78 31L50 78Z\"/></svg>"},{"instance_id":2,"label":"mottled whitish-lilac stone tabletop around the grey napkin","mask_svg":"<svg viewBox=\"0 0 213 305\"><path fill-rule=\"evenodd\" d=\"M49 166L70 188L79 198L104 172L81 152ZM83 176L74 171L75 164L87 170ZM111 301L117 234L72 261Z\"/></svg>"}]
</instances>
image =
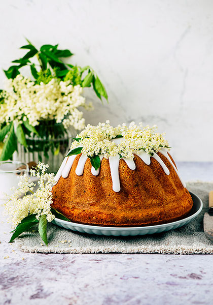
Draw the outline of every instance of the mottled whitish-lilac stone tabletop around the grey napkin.
<instances>
[{"instance_id":1,"label":"mottled whitish-lilac stone tabletop around the grey napkin","mask_svg":"<svg viewBox=\"0 0 213 305\"><path fill-rule=\"evenodd\" d=\"M211 180L213 164L203 166ZM186 164L179 168L186 179ZM189 168L187 179L199 179L203 167ZM9 230L2 220L1 305L212 303L212 255L31 254L7 243Z\"/></svg>"}]
</instances>

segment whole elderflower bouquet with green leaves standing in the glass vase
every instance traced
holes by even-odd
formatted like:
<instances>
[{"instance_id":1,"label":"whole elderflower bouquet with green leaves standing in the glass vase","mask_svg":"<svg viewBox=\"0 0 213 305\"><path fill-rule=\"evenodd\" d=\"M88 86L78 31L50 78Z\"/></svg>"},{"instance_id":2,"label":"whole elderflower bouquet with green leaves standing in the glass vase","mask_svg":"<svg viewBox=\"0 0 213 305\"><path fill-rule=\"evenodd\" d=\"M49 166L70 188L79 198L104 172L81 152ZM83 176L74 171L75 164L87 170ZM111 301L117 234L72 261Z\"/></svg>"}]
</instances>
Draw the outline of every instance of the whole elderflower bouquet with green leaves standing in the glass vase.
<instances>
[{"instance_id":1,"label":"whole elderflower bouquet with green leaves standing in the glass vase","mask_svg":"<svg viewBox=\"0 0 213 305\"><path fill-rule=\"evenodd\" d=\"M93 86L99 99L108 99L91 67L81 68L62 61L63 57L73 55L69 50L49 44L37 49L27 42L21 47L27 53L13 60L13 66L5 70L8 81L6 89L0 90L0 143L3 143L0 161L11 159L20 145L25 153L38 151L35 162L42 161L44 156L48 159L50 152L53 156L63 155L70 144L61 142L64 137L70 138L68 128L84 128L85 119L79 107L92 108L82 96L83 88ZM30 68L33 79L20 73L24 66ZM32 143L34 138L40 141ZM60 140L56 141L57 138Z\"/></svg>"}]
</instances>

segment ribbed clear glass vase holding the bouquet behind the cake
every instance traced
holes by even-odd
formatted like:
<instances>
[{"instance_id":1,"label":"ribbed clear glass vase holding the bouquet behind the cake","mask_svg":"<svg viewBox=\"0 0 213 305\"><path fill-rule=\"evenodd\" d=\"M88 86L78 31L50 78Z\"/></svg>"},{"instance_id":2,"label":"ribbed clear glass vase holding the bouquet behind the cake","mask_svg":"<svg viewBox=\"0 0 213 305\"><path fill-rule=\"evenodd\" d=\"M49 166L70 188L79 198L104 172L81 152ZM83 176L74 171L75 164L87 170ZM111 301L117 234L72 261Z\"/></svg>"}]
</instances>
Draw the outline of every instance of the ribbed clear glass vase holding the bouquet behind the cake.
<instances>
[{"instance_id":1,"label":"ribbed clear glass vase holding the bouquet behind the cake","mask_svg":"<svg viewBox=\"0 0 213 305\"><path fill-rule=\"evenodd\" d=\"M49 164L48 172L56 173L77 132L74 128L64 129L62 124L56 124L54 120L40 121L35 128L39 136L25 134L27 149L18 143L17 159L37 164L41 161Z\"/></svg>"}]
</instances>

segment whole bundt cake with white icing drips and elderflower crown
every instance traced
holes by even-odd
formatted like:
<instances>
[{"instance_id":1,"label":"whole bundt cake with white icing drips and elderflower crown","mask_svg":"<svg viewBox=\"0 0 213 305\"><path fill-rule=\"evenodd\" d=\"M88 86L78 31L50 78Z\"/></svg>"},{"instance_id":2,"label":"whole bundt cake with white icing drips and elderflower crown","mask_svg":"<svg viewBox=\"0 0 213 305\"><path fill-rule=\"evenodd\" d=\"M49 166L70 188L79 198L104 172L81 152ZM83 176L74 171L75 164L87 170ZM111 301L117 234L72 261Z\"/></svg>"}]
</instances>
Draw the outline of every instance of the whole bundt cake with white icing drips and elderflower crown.
<instances>
[{"instance_id":1,"label":"whole bundt cake with white icing drips and elderflower crown","mask_svg":"<svg viewBox=\"0 0 213 305\"><path fill-rule=\"evenodd\" d=\"M151 226L184 218L193 201L156 127L88 125L53 187L52 207L76 223Z\"/></svg>"}]
</instances>

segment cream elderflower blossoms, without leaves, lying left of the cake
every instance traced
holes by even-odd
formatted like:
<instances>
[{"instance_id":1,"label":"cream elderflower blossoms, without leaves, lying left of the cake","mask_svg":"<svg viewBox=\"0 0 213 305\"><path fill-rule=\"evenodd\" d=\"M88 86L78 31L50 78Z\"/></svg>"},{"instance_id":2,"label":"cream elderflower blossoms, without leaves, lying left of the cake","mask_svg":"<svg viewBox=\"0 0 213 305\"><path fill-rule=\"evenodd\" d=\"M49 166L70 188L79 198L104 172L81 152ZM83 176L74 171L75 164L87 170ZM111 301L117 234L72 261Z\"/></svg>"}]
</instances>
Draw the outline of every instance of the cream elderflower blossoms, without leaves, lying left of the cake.
<instances>
[{"instance_id":1,"label":"cream elderflower blossoms, without leaves, lying left of the cake","mask_svg":"<svg viewBox=\"0 0 213 305\"><path fill-rule=\"evenodd\" d=\"M36 169L30 170L31 176L37 176L38 189L33 192L35 184L29 182L29 177L24 174L20 176L19 189L14 190L14 194L9 196L5 203L5 214L9 216L8 222L15 228L29 214L36 214L39 220L40 216L46 215L47 221L51 222L55 216L51 212L52 187L55 184L54 174L46 173L49 165L39 163ZM27 195L27 193L31 193ZM20 198L20 196L25 196Z\"/></svg>"}]
</instances>

